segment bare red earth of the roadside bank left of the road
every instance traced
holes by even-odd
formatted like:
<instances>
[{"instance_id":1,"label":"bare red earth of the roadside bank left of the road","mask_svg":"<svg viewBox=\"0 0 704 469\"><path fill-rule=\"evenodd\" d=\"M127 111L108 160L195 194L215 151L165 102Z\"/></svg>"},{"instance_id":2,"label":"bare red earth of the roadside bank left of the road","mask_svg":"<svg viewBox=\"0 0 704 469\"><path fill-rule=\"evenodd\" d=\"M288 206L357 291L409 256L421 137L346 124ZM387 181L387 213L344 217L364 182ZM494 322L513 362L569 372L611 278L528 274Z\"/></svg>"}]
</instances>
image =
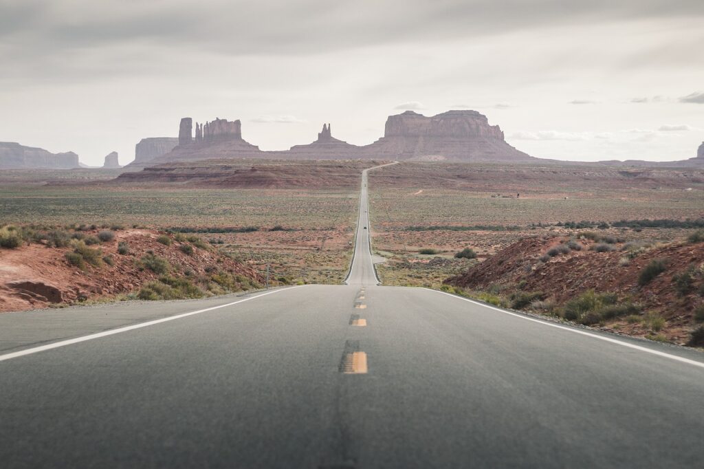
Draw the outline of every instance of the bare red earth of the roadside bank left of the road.
<instances>
[{"instance_id":1,"label":"bare red earth of the roadside bank left of the road","mask_svg":"<svg viewBox=\"0 0 704 469\"><path fill-rule=\"evenodd\" d=\"M86 234L95 235L96 232ZM100 268L88 265L85 271L66 261L65 254L73 250L70 247L30 244L18 249L0 249L0 312L134 292L145 282L158 277L151 270L137 268L135 261L147 251L165 258L177 271L191 269L195 275L203 275L206 267L217 266L234 275L258 282L263 280L255 270L215 251L194 246L194 254L189 256L180 251L178 242L165 246L156 241L162 234L154 230L116 231L112 241L90 246L101 249L103 256L112 255L115 264L104 264ZM129 244L129 254L118 254L120 241Z\"/></svg>"}]
</instances>

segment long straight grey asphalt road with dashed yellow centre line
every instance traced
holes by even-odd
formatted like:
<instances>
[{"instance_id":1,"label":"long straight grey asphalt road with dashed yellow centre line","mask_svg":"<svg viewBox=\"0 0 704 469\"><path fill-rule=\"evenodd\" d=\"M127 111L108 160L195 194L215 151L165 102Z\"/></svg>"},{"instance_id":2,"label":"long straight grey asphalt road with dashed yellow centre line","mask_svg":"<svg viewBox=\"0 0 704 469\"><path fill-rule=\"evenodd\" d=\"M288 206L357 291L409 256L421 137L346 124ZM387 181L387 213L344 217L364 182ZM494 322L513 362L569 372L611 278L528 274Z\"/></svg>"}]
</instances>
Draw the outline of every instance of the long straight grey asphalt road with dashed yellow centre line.
<instances>
[{"instance_id":1,"label":"long straight grey asphalt road with dashed yellow centre line","mask_svg":"<svg viewBox=\"0 0 704 469\"><path fill-rule=\"evenodd\" d=\"M0 467L703 467L703 354L379 286L366 174L344 285L0 315Z\"/></svg>"}]
</instances>

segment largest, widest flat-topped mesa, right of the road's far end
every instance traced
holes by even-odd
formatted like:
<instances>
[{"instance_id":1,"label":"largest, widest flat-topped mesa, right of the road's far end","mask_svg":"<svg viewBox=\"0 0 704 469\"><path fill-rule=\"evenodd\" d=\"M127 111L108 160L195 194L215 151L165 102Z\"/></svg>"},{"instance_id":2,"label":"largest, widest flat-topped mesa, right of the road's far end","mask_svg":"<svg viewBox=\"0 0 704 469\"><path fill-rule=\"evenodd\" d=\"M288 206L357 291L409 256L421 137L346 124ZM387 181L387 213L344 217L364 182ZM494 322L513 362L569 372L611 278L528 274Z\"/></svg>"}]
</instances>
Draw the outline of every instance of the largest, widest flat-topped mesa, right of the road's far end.
<instances>
[{"instance_id":1,"label":"largest, widest flat-topped mesa, right of the road's far end","mask_svg":"<svg viewBox=\"0 0 704 469\"><path fill-rule=\"evenodd\" d=\"M415 161L535 161L505 142L498 125L477 111L432 117L406 111L386 120L384 137L364 147L367 158Z\"/></svg>"}]
</instances>

